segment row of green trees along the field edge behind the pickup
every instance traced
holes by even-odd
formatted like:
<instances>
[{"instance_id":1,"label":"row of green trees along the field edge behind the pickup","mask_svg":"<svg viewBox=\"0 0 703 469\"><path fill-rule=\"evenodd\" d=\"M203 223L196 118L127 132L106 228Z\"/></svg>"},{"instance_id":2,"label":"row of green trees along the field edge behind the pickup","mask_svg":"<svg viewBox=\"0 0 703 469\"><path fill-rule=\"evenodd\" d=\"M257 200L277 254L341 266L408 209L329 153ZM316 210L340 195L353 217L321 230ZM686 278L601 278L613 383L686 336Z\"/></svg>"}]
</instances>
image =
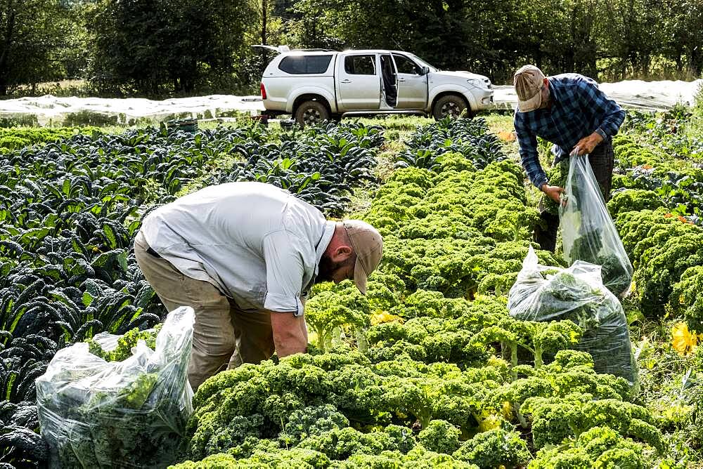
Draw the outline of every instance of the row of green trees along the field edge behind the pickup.
<instances>
[{"instance_id":1,"label":"row of green trees along the field edge behind the pickup","mask_svg":"<svg viewBox=\"0 0 703 469\"><path fill-rule=\"evenodd\" d=\"M703 1L0 0L0 95L61 77L108 95L256 93L273 56L252 48L262 43L399 49L497 84L525 63L599 81L692 79Z\"/></svg>"}]
</instances>

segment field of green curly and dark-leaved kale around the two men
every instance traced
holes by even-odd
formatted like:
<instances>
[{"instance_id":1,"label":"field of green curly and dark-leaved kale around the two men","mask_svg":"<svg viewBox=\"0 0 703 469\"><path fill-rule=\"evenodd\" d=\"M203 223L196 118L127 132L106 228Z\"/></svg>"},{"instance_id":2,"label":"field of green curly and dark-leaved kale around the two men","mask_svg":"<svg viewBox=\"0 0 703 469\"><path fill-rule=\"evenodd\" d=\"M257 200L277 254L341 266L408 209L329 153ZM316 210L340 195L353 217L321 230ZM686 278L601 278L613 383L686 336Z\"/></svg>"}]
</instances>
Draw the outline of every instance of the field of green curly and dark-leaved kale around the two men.
<instances>
[{"instance_id":1,"label":"field of green curly and dark-leaved kale around the two men","mask_svg":"<svg viewBox=\"0 0 703 469\"><path fill-rule=\"evenodd\" d=\"M510 117L290 131L248 123L194 135L6 130L0 468L50 459L86 468L703 467L703 138L692 131L702 120L683 109L630 113L614 140L608 209L635 267L622 300L624 366L588 345L602 341L598 321L622 311L614 296L603 296L612 299L597 321L584 322L584 308L553 322L508 312L530 246L553 272L566 266L559 250L531 242L537 193L517 163ZM143 419L85 407L72 416L104 427L49 447L34 380L58 350L89 341L120 361L138 337L154 346L154 333L134 330L166 315L134 260L141 218L233 180L285 187L328 217L378 227L385 252L368 295L351 282L317 285L305 311L309 352L210 378L180 446L159 448ZM102 331L131 332L103 352L91 341ZM110 406L146 406L154 383L143 378Z\"/></svg>"}]
</instances>

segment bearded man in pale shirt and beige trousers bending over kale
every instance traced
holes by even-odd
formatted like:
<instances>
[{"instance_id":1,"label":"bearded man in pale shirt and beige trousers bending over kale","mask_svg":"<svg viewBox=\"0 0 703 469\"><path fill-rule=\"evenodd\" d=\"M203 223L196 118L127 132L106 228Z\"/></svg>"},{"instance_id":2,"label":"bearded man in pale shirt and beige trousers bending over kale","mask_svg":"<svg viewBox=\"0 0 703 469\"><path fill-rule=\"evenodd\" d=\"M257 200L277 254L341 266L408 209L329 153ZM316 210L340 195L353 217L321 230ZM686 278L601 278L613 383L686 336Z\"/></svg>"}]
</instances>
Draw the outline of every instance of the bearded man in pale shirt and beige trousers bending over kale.
<instances>
[{"instance_id":1,"label":"bearded man in pale shirt and beige trousers bending over kale","mask_svg":"<svg viewBox=\"0 0 703 469\"><path fill-rule=\"evenodd\" d=\"M134 253L170 310L195 310L188 381L304 352L302 298L316 282L366 279L382 239L359 220L325 220L278 187L228 183L161 206L143 221Z\"/></svg>"}]
</instances>

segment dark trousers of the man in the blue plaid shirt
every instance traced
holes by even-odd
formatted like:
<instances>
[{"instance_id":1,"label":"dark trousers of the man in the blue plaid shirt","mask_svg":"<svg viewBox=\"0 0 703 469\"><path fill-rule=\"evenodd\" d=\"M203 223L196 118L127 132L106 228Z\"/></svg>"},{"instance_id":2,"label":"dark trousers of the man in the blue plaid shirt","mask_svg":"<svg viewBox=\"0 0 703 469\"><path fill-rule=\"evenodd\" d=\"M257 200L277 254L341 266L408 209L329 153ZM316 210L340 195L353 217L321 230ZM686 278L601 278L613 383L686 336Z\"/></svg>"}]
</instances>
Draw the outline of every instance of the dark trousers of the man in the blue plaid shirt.
<instances>
[{"instance_id":1,"label":"dark trousers of the man in the blue plaid shirt","mask_svg":"<svg viewBox=\"0 0 703 469\"><path fill-rule=\"evenodd\" d=\"M588 155L588 162L591 163L591 169L595 175L595 180L598 180L600 191L603 194L603 199L607 203L610 200L610 187L613 180L613 166L615 155L613 153L613 145L609 140L603 140L593 152ZM569 158L562 159L562 174L569 172ZM543 196L546 197L546 196ZM540 204L541 205L541 204ZM540 218L543 226L537 225L534 230L534 240L542 249L554 252L557 246L557 230L559 229L559 216L553 215L546 210L541 209Z\"/></svg>"}]
</instances>

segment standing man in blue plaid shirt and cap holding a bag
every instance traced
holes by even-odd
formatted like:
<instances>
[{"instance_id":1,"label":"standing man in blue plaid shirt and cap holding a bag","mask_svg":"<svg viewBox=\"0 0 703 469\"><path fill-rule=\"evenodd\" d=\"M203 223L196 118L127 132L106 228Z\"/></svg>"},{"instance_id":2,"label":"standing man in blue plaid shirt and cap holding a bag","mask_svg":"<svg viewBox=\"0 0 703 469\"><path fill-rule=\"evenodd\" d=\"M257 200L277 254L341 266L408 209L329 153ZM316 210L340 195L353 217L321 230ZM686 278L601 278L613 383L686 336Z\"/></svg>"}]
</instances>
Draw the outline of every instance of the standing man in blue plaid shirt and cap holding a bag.
<instances>
[{"instance_id":1,"label":"standing man in blue plaid shirt and cap holding a bag","mask_svg":"<svg viewBox=\"0 0 703 469\"><path fill-rule=\"evenodd\" d=\"M546 78L534 65L525 65L513 77L517 93L515 132L520 144L522 167L539 190L557 204L562 187L550 185L537 155L537 137L553 143L553 164L567 161L572 151L588 154L603 199L610 199L614 154L612 136L625 119L625 111L600 91L592 79L576 73ZM568 165L565 164L568 169ZM542 249L554 251L559 217L544 209L543 227L535 230Z\"/></svg>"}]
</instances>

